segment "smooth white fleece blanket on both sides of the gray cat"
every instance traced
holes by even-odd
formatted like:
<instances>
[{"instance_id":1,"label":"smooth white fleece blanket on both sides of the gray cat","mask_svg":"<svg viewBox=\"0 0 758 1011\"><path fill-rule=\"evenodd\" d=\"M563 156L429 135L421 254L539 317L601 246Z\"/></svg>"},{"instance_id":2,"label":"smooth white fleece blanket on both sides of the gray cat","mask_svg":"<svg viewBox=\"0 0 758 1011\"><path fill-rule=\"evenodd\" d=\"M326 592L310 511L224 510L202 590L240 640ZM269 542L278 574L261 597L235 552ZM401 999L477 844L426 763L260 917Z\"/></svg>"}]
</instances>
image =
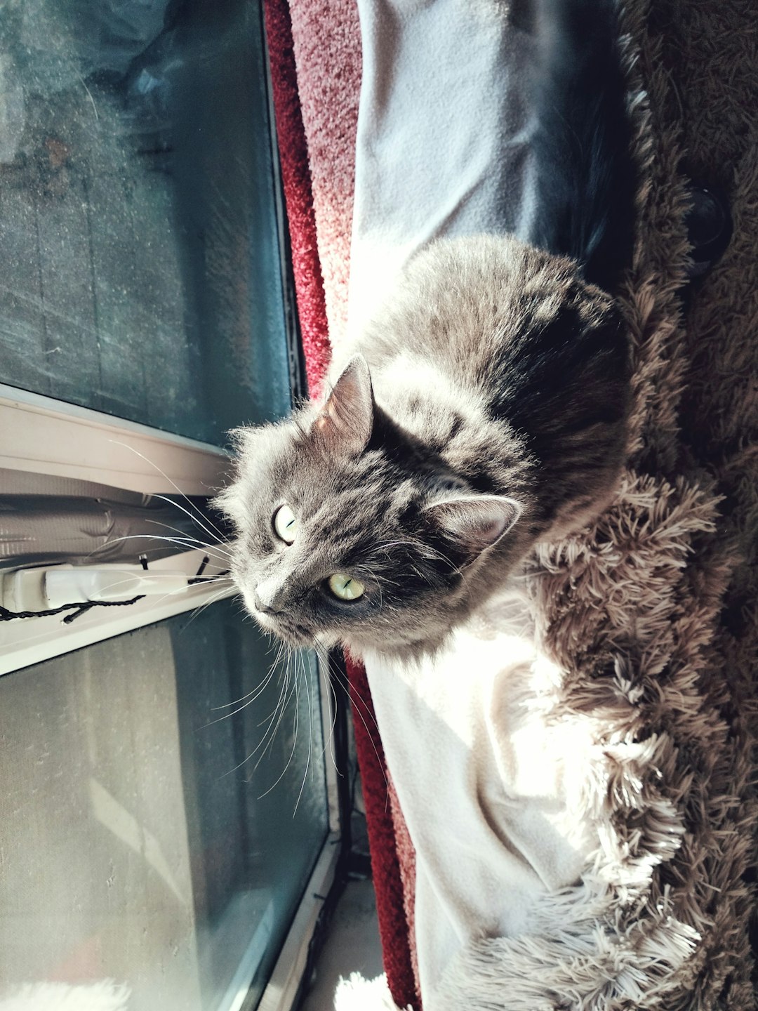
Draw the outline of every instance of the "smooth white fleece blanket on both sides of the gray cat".
<instances>
[{"instance_id":1,"label":"smooth white fleece blanket on both sides of the gray cat","mask_svg":"<svg viewBox=\"0 0 758 1011\"><path fill-rule=\"evenodd\" d=\"M349 334L430 241L523 232L531 213L524 85L533 38L498 0L359 0L364 77ZM424 1011L468 941L530 929L538 897L578 881L597 835L582 798L591 731L548 722L560 672L524 603L443 656L365 658L387 765L416 850Z\"/></svg>"}]
</instances>

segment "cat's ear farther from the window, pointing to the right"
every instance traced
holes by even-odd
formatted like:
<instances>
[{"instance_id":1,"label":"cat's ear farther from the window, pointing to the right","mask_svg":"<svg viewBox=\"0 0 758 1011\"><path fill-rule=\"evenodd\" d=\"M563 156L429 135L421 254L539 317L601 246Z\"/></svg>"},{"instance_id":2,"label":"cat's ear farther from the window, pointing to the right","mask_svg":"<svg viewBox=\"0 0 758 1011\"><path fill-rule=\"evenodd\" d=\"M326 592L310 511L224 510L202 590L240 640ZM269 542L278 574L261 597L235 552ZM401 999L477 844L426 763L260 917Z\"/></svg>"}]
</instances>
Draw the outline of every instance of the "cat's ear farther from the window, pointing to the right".
<instances>
[{"instance_id":1,"label":"cat's ear farther from the window, pointing to the right","mask_svg":"<svg viewBox=\"0 0 758 1011\"><path fill-rule=\"evenodd\" d=\"M474 558L507 534L522 507L506 495L457 495L433 502L427 516Z\"/></svg>"}]
</instances>

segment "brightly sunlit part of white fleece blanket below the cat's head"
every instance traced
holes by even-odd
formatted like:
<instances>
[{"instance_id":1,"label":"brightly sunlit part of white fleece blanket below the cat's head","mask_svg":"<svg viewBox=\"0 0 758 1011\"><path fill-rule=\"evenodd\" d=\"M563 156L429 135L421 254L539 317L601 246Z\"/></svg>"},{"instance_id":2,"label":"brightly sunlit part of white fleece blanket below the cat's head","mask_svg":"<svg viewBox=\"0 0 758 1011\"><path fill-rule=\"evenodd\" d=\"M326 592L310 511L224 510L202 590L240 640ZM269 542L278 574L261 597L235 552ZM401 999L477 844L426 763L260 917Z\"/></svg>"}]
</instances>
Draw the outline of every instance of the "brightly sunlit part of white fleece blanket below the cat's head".
<instances>
[{"instance_id":1,"label":"brightly sunlit part of white fleece blanket below the cat's head","mask_svg":"<svg viewBox=\"0 0 758 1011\"><path fill-rule=\"evenodd\" d=\"M517 600L434 660L369 655L366 668L416 850L418 972L435 1011L460 950L532 932L539 898L577 882L597 847L585 795L594 724L551 722L561 674L537 654Z\"/></svg>"}]
</instances>

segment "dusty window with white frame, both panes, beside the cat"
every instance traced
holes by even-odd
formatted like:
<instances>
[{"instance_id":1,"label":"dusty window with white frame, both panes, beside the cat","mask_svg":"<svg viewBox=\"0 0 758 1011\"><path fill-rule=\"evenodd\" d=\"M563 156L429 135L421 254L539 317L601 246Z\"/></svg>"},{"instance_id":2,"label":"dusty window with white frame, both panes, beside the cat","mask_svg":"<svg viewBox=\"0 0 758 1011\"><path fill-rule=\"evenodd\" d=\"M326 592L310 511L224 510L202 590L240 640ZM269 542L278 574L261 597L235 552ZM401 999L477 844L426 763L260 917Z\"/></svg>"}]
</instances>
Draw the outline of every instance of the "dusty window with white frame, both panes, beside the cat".
<instances>
[{"instance_id":1,"label":"dusty window with white frame, both panes, beside the cat","mask_svg":"<svg viewBox=\"0 0 758 1011\"><path fill-rule=\"evenodd\" d=\"M34 0L0 43L0 604L55 610L54 573L74 605L0 623L0 998L286 1008L337 859L331 716L207 508L225 432L299 381L261 10ZM84 570L146 566L81 607Z\"/></svg>"}]
</instances>

